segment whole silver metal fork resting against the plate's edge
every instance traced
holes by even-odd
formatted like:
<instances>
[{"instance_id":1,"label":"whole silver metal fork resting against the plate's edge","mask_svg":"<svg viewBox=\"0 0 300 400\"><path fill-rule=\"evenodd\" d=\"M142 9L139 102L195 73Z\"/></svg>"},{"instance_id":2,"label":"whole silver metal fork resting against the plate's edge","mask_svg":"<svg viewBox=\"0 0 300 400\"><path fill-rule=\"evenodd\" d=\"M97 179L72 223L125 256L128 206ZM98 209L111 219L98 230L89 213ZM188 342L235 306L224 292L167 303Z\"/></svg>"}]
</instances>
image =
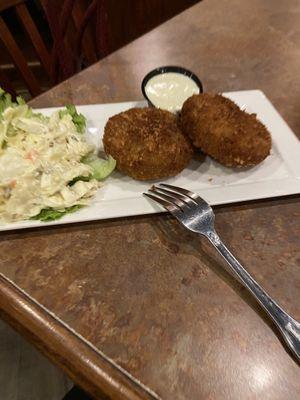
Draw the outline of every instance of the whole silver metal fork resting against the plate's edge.
<instances>
[{"instance_id":1,"label":"whole silver metal fork resting against the plate's edge","mask_svg":"<svg viewBox=\"0 0 300 400\"><path fill-rule=\"evenodd\" d=\"M300 323L279 307L227 249L215 231L215 215L210 205L196 193L163 183L159 186L152 186L149 192L151 194L144 193L144 195L161 204L190 231L200 233L211 242L227 261L233 275L249 290L271 317L299 361Z\"/></svg>"}]
</instances>

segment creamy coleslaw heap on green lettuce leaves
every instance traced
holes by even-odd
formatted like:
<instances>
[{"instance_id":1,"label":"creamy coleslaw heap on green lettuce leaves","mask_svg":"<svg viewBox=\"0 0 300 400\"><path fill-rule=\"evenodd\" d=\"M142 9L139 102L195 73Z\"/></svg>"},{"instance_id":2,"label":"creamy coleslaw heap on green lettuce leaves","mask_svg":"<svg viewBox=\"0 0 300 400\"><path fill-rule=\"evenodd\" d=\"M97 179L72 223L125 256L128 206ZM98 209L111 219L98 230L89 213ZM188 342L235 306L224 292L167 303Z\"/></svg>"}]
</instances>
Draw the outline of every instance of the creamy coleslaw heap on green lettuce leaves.
<instances>
[{"instance_id":1,"label":"creamy coleslaw heap on green lettuce leaves","mask_svg":"<svg viewBox=\"0 0 300 400\"><path fill-rule=\"evenodd\" d=\"M0 223L48 221L89 203L115 168L99 159L74 106L50 117L0 88Z\"/></svg>"}]
</instances>

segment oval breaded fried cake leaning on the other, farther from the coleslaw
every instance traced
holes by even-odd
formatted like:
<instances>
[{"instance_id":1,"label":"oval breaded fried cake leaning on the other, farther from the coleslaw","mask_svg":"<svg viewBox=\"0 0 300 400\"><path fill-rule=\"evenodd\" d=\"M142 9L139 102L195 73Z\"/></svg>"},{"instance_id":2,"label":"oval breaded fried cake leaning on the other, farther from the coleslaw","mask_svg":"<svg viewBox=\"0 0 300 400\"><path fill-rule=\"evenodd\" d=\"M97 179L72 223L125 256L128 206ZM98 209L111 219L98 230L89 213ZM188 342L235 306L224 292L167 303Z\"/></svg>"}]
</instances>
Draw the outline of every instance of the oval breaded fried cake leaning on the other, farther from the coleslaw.
<instances>
[{"instance_id":1,"label":"oval breaded fried cake leaning on the other, farther from the coleslaw","mask_svg":"<svg viewBox=\"0 0 300 400\"><path fill-rule=\"evenodd\" d=\"M187 99L181 127L194 146L227 167L249 167L263 161L271 149L271 136L255 114L247 114L219 94Z\"/></svg>"}]
</instances>

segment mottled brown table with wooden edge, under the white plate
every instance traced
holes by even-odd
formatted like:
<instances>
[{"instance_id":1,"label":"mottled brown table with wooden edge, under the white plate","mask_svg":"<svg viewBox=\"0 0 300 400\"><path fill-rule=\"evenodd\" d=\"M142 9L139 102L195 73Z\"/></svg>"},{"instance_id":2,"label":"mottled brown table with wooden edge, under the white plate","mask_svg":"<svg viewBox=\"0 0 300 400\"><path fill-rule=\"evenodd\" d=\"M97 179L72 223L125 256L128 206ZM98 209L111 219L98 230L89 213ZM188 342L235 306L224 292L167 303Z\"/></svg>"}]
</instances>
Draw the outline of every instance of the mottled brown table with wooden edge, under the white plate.
<instances>
[{"instance_id":1,"label":"mottled brown table with wooden edge, under the white plate","mask_svg":"<svg viewBox=\"0 0 300 400\"><path fill-rule=\"evenodd\" d=\"M299 26L298 0L206 0L32 104L139 99L150 69L178 64L205 90L263 90L299 133ZM299 320L299 198L216 214L229 247ZM2 317L95 398L300 396L273 326L205 240L166 215L2 233L0 251Z\"/></svg>"}]
</instances>

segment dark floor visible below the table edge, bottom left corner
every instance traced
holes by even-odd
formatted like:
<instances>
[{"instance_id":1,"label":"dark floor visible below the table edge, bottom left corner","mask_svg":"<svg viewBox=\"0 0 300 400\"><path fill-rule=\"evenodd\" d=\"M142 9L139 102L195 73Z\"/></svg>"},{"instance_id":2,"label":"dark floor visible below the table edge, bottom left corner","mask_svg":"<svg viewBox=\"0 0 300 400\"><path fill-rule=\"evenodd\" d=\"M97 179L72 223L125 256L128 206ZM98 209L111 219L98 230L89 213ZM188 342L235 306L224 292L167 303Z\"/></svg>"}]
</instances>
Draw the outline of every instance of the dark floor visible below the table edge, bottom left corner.
<instances>
[{"instance_id":1,"label":"dark floor visible below the table edge, bottom left corner","mask_svg":"<svg viewBox=\"0 0 300 400\"><path fill-rule=\"evenodd\" d=\"M0 399L61 400L72 382L0 321Z\"/></svg>"}]
</instances>

